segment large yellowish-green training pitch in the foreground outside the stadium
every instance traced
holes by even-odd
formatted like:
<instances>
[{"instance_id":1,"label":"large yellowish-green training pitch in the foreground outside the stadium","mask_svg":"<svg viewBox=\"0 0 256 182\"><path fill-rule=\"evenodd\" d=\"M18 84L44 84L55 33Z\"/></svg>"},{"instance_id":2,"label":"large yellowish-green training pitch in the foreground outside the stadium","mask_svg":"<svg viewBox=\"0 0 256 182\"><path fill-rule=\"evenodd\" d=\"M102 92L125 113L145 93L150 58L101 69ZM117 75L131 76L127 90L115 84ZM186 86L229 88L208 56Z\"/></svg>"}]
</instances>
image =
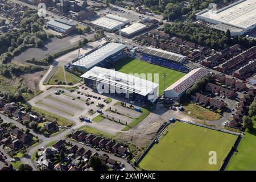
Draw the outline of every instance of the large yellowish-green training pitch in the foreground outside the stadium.
<instances>
[{"instance_id":1,"label":"large yellowish-green training pitch in the foreground outside the stadium","mask_svg":"<svg viewBox=\"0 0 256 182\"><path fill-rule=\"evenodd\" d=\"M237 139L236 135L181 122L168 126L164 134L139 163L143 169L219 170ZM217 164L209 164L210 151L216 151Z\"/></svg>"}]
</instances>

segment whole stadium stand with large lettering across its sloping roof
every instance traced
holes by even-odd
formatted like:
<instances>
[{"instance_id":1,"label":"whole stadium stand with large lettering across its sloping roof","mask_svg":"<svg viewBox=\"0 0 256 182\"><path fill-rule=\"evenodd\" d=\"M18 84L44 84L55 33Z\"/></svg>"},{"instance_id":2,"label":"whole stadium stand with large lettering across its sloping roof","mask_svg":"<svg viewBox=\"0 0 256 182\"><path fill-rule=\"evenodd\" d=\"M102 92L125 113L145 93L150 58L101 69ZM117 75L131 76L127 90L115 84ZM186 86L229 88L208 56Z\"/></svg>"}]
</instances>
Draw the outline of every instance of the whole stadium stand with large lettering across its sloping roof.
<instances>
[{"instance_id":1,"label":"whole stadium stand with large lettering across its sloping roof","mask_svg":"<svg viewBox=\"0 0 256 182\"><path fill-rule=\"evenodd\" d=\"M187 75L165 89L164 97L171 98L173 100L180 100L181 96L195 83L196 80L199 80L207 74L208 71L204 68L193 69Z\"/></svg>"}]
</instances>

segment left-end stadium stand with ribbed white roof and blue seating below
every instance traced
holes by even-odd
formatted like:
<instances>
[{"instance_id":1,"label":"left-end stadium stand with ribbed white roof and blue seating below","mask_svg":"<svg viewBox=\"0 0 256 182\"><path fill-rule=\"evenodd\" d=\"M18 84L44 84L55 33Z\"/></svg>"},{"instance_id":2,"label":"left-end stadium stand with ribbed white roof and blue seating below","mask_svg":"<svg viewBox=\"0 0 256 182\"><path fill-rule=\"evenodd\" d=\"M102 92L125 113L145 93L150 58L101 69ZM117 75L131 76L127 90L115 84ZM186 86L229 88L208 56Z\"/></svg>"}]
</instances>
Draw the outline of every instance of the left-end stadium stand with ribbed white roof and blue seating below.
<instances>
[{"instance_id":1,"label":"left-end stadium stand with ribbed white roof and blue seating below","mask_svg":"<svg viewBox=\"0 0 256 182\"><path fill-rule=\"evenodd\" d=\"M114 62L125 56L123 49L126 45L120 43L109 43L105 46L98 48L96 51L89 53L83 57L80 57L75 63L72 63L72 67L79 69L81 72L88 71L90 68L102 64L102 61Z\"/></svg>"}]
</instances>

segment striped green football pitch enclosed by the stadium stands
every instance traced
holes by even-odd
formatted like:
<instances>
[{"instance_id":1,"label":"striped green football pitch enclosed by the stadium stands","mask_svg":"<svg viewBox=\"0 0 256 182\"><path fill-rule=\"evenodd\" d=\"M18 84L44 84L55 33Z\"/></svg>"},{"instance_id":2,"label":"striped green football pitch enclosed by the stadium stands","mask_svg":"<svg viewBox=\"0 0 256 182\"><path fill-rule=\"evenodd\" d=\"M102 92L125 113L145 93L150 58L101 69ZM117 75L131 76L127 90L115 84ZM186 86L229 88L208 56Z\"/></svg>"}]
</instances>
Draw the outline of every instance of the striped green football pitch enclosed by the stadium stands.
<instances>
[{"instance_id":1,"label":"striped green football pitch enclosed by the stadium stands","mask_svg":"<svg viewBox=\"0 0 256 182\"><path fill-rule=\"evenodd\" d=\"M175 71L173 69L168 69L164 67L160 67L158 65L147 63L146 61L141 61L137 59L133 59L130 57L127 57L125 59L119 60L113 67L115 71L123 72L123 73L158 73L159 74L159 94L163 94L164 90L164 78L163 74L167 73L166 78L166 88L177 80L179 80L181 77L186 75L183 72ZM154 81L154 75L152 75L152 81ZM148 79L148 78L147 78Z\"/></svg>"}]
</instances>

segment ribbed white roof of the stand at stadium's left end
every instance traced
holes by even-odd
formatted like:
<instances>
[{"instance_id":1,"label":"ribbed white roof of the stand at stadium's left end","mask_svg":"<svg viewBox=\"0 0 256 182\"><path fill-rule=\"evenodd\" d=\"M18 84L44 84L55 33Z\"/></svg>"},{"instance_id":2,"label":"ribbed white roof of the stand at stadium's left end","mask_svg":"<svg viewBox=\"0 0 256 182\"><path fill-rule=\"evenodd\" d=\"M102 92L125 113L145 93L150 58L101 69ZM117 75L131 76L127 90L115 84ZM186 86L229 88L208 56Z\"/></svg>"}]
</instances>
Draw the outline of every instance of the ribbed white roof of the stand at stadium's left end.
<instances>
[{"instance_id":1,"label":"ribbed white roof of the stand at stadium's left end","mask_svg":"<svg viewBox=\"0 0 256 182\"><path fill-rule=\"evenodd\" d=\"M100 63L101 61L105 60L107 57L113 55L114 53L117 53L118 51L121 51L124 48L126 48L126 45L124 44L109 43L106 44L106 46L103 46L97 49L96 51L90 53L89 55L82 57L75 63L72 63L72 65L77 65L89 69L94 65Z\"/></svg>"}]
</instances>

